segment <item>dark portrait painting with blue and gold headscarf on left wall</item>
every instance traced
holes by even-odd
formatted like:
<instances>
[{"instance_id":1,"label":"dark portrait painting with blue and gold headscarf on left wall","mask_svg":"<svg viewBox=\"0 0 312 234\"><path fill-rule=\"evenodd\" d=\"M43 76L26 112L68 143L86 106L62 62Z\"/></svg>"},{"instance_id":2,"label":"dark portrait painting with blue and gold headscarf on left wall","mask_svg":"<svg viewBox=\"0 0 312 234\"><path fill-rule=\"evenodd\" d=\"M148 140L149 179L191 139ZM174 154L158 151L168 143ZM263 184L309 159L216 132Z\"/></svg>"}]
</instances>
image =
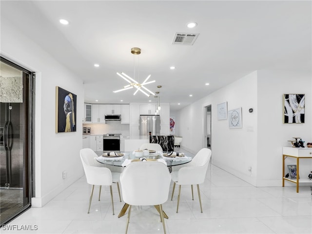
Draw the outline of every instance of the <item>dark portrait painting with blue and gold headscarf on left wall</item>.
<instances>
[{"instance_id":1,"label":"dark portrait painting with blue and gold headscarf on left wall","mask_svg":"<svg viewBox=\"0 0 312 234\"><path fill-rule=\"evenodd\" d=\"M76 132L77 95L56 86L56 133Z\"/></svg>"}]
</instances>

